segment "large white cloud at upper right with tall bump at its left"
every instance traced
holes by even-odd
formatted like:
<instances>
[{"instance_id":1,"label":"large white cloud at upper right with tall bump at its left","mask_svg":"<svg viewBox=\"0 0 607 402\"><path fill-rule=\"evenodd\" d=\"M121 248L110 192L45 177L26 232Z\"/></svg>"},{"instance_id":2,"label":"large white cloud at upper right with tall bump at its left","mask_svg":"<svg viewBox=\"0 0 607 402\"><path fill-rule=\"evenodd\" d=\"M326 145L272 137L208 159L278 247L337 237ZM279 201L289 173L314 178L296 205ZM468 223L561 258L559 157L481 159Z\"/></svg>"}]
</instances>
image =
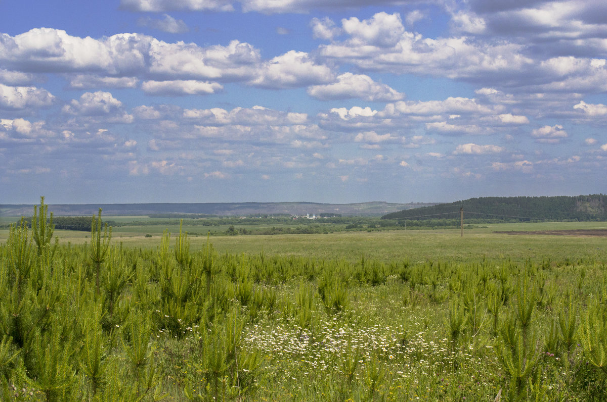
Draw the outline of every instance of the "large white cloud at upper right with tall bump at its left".
<instances>
[{"instance_id":1,"label":"large white cloud at upper right with tall bump at its left","mask_svg":"<svg viewBox=\"0 0 607 402\"><path fill-rule=\"evenodd\" d=\"M351 18L342 21L342 28L349 37L321 45L320 55L361 69L505 81L516 79L521 70L533 65L521 53L521 45L473 42L466 37L424 38L406 32L398 14L378 13L364 21Z\"/></svg>"}]
</instances>

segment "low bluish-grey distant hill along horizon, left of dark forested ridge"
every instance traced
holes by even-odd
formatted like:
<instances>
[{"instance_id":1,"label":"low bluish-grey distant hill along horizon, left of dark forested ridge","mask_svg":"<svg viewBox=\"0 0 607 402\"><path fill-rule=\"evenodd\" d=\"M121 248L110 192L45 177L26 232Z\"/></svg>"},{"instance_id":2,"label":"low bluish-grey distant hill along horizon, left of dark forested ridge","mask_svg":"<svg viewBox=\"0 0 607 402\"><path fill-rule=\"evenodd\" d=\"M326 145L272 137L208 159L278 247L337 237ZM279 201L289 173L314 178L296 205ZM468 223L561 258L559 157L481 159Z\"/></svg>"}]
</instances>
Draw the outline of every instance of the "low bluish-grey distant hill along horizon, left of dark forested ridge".
<instances>
[{"instance_id":1,"label":"low bluish-grey distant hill along horizon, left of dark forested ridge","mask_svg":"<svg viewBox=\"0 0 607 402\"><path fill-rule=\"evenodd\" d=\"M0 216L32 216L33 205L0 204ZM383 201L356 204L322 203L154 203L154 204L49 204L55 216L92 216L99 208L104 216L152 215L159 213L196 213L205 215L310 215L338 213L342 216L381 216L432 203L396 204Z\"/></svg>"}]
</instances>

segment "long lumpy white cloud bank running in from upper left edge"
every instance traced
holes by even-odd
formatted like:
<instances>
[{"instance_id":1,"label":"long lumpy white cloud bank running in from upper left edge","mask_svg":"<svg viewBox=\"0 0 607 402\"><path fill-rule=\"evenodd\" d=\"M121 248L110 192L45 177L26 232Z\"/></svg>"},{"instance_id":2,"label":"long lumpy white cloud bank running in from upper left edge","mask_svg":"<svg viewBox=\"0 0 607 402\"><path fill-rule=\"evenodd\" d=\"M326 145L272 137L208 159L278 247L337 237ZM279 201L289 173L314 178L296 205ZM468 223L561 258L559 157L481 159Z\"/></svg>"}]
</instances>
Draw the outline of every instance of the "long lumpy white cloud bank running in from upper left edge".
<instances>
[{"instance_id":1,"label":"long lumpy white cloud bank running in from upper left edge","mask_svg":"<svg viewBox=\"0 0 607 402\"><path fill-rule=\"evenodd\" d=\"M0 62L22 72L245 81L256 76L260 56L259 50L239 41L200 47L137 33L93 39L35 28L14 37L0 35Z\"/></svg>"}]
</instances>

